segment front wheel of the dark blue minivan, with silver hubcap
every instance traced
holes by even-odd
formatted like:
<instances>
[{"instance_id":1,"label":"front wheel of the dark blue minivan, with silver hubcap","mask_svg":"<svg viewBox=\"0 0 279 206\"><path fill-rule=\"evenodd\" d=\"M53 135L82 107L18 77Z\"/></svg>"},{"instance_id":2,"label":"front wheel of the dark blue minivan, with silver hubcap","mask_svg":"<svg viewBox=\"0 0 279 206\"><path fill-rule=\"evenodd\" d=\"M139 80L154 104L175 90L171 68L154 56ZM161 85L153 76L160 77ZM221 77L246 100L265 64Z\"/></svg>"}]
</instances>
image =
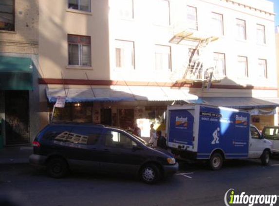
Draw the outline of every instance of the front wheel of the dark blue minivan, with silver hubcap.
<instances>
[{"instance_id":1,"label":"front wheel of the dark blue minivan, with silver hubcap","mask_svg":"<svg viewBox=\"0 0 279 206\"><path fill-rule=\"evenodd\" d=\"M140 171L140 178L147 184L155 184L160 177L160 170L156 165L144 165Z\"/></svg>"}]
</instances>

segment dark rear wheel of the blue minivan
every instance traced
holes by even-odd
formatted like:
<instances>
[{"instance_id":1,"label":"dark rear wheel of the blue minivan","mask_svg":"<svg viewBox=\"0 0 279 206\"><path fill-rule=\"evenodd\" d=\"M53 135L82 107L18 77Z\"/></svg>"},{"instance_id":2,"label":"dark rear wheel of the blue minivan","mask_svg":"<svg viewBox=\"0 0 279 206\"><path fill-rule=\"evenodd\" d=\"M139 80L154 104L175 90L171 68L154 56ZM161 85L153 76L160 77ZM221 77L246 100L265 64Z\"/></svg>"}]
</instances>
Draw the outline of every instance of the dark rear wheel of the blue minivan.
<instances>
[{"instance_id":1,"label":"dark rear wheel of the blue minivan","mask_svg":"<svg viewBox=\"0 0 279 206\"><path fill-rule=\"evenodd\" d=\"M47 171L51 177L61 178L67 174L68 165L64 159L55 157L48 161Z\"/></svg>"}]
</instances>

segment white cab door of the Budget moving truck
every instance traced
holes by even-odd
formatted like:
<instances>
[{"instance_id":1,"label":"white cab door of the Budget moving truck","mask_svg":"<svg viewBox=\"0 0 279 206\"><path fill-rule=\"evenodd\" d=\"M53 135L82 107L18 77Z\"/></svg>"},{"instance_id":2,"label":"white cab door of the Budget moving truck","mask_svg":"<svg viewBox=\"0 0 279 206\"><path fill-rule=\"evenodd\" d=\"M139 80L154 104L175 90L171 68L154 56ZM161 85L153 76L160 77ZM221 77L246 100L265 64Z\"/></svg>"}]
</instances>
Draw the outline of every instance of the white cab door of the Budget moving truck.
<instances>
[{"instance_id":1,"label":"white cab door of the Budget moving truck","mask_svg":"<svg viewBox=\"0 0 279 206\"><path fill-rule=\"evenodd\" d=\"M258 129L254 126L250 126L249 158L259 158L261 156L265 145L263 141Z\"/></svg>"}]
</instances>

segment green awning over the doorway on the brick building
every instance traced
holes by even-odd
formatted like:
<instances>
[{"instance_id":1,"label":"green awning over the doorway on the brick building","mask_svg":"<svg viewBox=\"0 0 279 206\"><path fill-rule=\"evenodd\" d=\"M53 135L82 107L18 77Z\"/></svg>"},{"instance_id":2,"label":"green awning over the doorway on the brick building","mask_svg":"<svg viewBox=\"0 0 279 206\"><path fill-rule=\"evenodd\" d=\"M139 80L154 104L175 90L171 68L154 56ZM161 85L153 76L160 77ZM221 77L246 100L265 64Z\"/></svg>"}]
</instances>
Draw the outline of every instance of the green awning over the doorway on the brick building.
<instances>
[{"instance_id":1,"label":"green awning over the doorway on the brick building","mask_svg":"<svg viewBox=\"0 0 279 206\"><path fill-rule=\"evenodd\" d=\"M31 58L0 56L0 90L32 90L33 68Z\"/></svg>"}]
</instances>

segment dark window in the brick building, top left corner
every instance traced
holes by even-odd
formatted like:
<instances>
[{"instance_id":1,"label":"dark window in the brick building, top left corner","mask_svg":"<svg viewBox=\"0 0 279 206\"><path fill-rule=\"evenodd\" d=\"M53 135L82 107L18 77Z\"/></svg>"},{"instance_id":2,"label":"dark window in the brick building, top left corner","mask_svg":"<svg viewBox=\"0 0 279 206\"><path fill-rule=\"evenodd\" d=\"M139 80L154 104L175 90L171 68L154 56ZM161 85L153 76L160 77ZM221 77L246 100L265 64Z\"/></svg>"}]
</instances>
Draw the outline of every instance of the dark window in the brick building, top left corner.
<instances>
[{"instance_id":1,"label":"dark window in the brick building, top left corner","mask_svg":"<svg viewBox=\"0 0 279 206\"><path fill-rule=\"evenodd\" d=\"M0 1L0 30L15 31L15 0Z\"/></svg>"}]
</instances>

